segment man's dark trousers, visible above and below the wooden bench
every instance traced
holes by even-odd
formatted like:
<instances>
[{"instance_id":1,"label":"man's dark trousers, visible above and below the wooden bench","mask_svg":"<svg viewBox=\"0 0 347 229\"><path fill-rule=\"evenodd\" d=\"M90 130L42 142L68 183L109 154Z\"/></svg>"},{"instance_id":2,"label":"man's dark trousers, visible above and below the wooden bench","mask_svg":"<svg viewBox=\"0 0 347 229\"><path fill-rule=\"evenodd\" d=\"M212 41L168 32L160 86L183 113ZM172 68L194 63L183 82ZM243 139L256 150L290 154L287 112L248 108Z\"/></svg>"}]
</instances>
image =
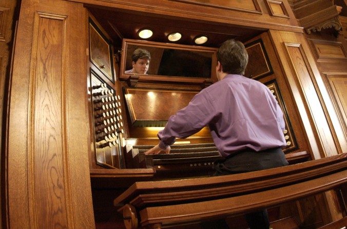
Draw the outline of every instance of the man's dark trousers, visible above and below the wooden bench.
<instances>
[{"instance_id":1,"label":"man's dark trousers, visible above and below the wooden bench","mask_svg":"<svg viewBox=\"0 0 347 229\"><path fill-rule=\"evenodd\" d=\"M259 152L244 150L232 154L227 158L215 161L214 169L216 172L213 176L265 170L287 164L288 161L285 159L281 148L268 149ZM244 217L250 229L268 229L270 226L266 209L245 214ZM225 220L206 222L203 223L202 226L206 229L229 228Z\"/></svg>"}]
</instances>

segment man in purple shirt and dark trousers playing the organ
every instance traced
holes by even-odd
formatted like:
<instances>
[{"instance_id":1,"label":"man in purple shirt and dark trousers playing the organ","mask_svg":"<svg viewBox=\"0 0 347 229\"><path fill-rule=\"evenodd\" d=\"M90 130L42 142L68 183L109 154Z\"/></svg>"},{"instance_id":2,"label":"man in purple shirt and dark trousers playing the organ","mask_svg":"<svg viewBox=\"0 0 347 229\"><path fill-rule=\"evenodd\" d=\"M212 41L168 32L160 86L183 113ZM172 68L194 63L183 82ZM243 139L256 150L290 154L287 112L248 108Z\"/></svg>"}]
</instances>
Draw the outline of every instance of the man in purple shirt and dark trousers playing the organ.
<instances>
[{"instance_id":1,"label":"man in purple shirt and dark trousers playing the organ","mask_svg":"<svg viewBox=\"0 0 347 229\"><path fill-rule=\"evenodd\" d=\"M225 41L217 51L217 60L219 81L172 115L158 133L159 144L145 154L169 153L177 137L186 138L208 125L223 158L214 163L216 176L287 165L281 150L286 145L283 113L265 85L242 76L248 63L243 44ZM269 228L266 210L245 218L251 229ZM228 228L225 221L212 225Z\"/></svg>"}]
</instances>

